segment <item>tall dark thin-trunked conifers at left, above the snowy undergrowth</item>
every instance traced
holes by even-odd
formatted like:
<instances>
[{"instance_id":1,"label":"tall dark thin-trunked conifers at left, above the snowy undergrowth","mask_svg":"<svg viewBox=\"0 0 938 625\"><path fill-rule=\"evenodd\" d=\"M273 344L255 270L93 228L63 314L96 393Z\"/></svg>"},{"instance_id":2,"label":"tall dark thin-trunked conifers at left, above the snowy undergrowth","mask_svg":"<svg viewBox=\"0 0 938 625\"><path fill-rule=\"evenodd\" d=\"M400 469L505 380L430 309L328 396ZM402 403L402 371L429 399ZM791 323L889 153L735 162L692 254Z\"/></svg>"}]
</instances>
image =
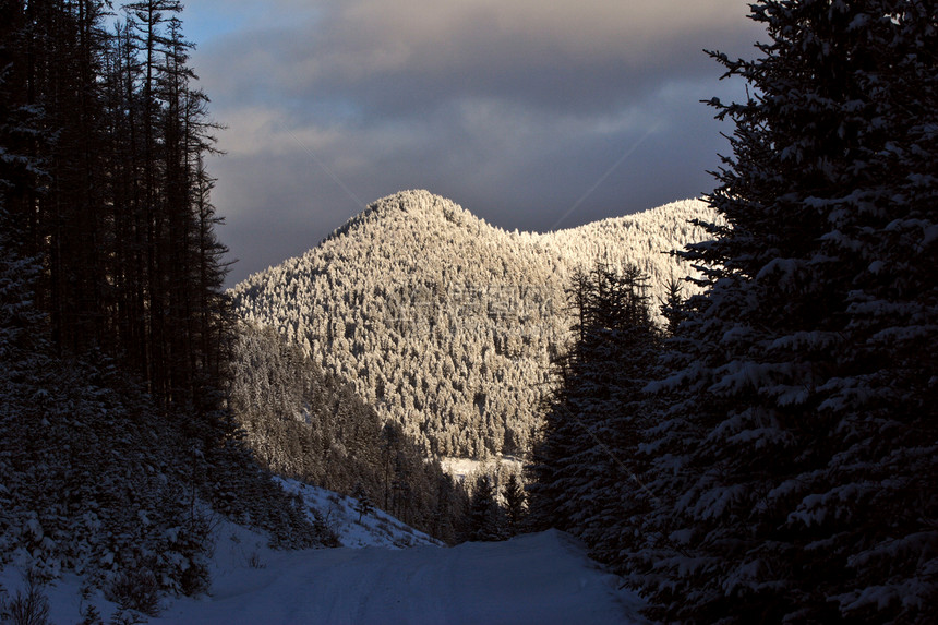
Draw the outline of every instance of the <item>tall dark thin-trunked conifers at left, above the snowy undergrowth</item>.
<instances>
[{"instance_id":1,"label":"tall dark thin-trunked conifers at left, above the snowy undergrowth","mask_svg":"<svg viewBox=\"0 0 938 625\"><path fill-rule=\"evenodd\" d=\"M35 303L60 354L101 351L157 400L212 411L229 330L202 166L216 127L191 85L181 5L130 4L113 33L106 9L0 5L9 225L44 266Z\"/></svg>"}]
</instances>

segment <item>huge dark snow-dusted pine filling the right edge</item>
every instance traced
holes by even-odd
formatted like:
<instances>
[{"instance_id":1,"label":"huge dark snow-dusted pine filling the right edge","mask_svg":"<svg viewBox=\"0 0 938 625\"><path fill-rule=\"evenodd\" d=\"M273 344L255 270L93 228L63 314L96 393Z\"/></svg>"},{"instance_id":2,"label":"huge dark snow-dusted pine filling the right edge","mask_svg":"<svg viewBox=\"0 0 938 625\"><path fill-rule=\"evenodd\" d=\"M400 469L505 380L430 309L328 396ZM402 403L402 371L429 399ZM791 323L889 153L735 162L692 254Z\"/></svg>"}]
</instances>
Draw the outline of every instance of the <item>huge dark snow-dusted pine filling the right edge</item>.
<instances>
[{"instance_id":1,"label":"huge dark snow-dusted pine filling the right edge","mask_svg":"<svg viewBox=\"0 0 938 625\"><path fill-rule=\"evenodd\" d=\"M654 433L645 574L693 622L923 622L938 572L938 21L931 2L762 0L761 57L692 245ZM680 433L680 436L676 434ZM657 542L654 542L657 540ZM642 568L644 567L644 568Z\"/></svg>"}]
</instances>

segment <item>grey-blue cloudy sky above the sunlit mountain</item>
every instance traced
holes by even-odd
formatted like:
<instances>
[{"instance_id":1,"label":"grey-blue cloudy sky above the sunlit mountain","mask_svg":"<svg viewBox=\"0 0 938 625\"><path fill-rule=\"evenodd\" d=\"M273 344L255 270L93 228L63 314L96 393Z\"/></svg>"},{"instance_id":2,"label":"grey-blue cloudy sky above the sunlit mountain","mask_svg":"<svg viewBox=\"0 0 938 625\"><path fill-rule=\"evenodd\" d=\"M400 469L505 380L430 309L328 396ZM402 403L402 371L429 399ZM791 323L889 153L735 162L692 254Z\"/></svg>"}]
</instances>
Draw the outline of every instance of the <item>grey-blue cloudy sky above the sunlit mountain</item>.
<instances>
[{"instance_id":1,"label":"grey-blue cloudy sky above the sunlit mountain","mask_svg":"<svg viewBox=\"0 0 938 625\"><path fill-rule=\"evenodd\" d=\"M429 189L552 230L713 187L701 51L753 56L746 0L190 0L193 65L227 125L213 159L229 284L369 203ZM761 37L765 39L765 37Z\"/></svg>"}]
</instances>

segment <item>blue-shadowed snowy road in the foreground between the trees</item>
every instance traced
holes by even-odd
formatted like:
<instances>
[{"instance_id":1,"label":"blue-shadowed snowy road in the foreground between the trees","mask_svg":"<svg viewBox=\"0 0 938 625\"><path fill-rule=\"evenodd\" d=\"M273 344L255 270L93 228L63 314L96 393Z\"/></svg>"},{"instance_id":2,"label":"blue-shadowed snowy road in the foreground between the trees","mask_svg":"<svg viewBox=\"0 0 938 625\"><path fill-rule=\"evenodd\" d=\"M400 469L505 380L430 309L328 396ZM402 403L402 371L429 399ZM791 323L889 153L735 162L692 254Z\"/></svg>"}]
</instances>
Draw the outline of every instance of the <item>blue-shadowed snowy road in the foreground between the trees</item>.
<instances>
[{"instance_id":1,"label":"blue-shadowed snowy road in the foreground between the trees","mask_svg":"<svg viewBox=\"0 0 938 625\"><path fill-rule=\"evenodd\" d=\"M212 596L152 623L623 624L636 599L567 534L501 543L267 552L264 568L216 574Z\"/></svg>"}]
</instances>

